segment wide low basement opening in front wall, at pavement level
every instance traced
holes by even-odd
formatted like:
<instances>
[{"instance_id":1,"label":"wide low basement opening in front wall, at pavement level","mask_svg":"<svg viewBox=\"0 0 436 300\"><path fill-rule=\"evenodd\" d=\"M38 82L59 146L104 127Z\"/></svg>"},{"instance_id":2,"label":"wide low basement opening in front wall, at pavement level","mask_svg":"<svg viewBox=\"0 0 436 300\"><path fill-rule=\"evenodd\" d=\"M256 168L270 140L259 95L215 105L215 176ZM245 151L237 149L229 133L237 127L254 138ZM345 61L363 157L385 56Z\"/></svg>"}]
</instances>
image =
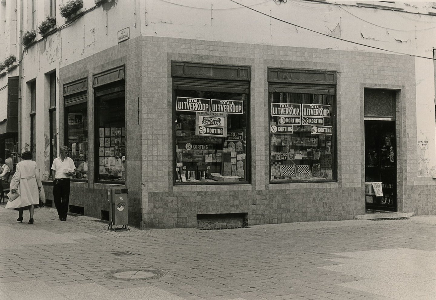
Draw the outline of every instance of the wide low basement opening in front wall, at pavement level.
<instances>
[{"instance_id":1,"label":"wide low basement opening in front wall, at pavement level","mask_svg":"<svg viewBox=\"0 0 436 300\"><path fill-rule=\"evenodd\" d=\"M197 228L201 230L249 228L247 213L197 215Z\"/></svg>"}]
</instances>

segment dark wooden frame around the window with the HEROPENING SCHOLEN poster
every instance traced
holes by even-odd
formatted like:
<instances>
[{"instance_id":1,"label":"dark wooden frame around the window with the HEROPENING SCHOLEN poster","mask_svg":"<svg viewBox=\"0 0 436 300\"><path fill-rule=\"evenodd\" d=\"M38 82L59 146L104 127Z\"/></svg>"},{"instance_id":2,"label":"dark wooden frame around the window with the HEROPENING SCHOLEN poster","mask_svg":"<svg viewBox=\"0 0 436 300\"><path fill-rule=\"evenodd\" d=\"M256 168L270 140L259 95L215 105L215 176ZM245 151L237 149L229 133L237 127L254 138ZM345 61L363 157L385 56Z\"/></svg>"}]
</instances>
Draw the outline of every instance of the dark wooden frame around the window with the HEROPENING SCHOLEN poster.
<instances>
[{"instance_id":1,"label":"dark wooden frame around the window with the HEROPENING SCHOLEN poster","mask_svg":"<svg viewBox=\"0 0 436 300\"><path fill-rule=\"evenodd\" d=\"M251 67L241 65L217 65L206 63L193 63L172 61L172 162L171 175L173 186L201 186L201 185L233 185L251 184L252 182L252 148L251 148ZM232 73L235 72L235 73ZM218 75L214 75L218 74ZM246 144L245 144L245 178L243 181L195 181L177 182L177 154L176 154L176 128L174 126L176 117L176 101L178 90L203 91L203 92L228 92L241 93L246 95Z\"/></svg>"}]
</instances>

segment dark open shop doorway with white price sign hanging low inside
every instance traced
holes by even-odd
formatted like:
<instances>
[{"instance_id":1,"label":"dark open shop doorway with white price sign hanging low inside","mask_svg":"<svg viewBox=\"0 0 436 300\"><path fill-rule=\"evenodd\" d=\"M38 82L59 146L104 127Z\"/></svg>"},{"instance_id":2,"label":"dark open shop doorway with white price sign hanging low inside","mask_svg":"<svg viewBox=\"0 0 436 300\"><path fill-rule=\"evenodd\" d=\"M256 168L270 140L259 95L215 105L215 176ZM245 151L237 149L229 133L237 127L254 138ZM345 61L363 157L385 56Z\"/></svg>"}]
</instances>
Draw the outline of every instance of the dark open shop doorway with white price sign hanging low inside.
<instances>
[{"instance_id":1,"label":"dark open shop doorway with white price sign hanging low inside","mask_svg":"<svg viewBox=\"0 0 436 300\"><path fill-rule=\"evenodd\" d=\"M364 89L367 213L398 209L395 97L395 90Z\"/></svg>"}]
</instances>

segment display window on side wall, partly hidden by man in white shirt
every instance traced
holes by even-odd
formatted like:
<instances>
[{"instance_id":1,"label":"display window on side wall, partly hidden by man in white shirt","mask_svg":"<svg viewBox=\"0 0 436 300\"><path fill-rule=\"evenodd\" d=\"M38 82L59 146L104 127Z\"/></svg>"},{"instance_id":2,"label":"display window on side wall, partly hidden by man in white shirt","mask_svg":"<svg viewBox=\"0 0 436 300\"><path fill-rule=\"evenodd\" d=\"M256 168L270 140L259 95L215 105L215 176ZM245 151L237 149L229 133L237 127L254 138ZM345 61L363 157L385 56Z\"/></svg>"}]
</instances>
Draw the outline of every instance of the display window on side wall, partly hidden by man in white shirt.
<instances>
[{"instance_id":1,"label":"display window on side wall, partly hidden by man in white shirt","mask_svg":"<svg viewBox=\"0 0 436 300\"><path fill-rule=\"evenodd\" d=\"M65 107L65 141L70 148L69 157L74 161L76 167L72 179L83 181L88 180L88 103Z\"/></svg>"}]
</instances>

